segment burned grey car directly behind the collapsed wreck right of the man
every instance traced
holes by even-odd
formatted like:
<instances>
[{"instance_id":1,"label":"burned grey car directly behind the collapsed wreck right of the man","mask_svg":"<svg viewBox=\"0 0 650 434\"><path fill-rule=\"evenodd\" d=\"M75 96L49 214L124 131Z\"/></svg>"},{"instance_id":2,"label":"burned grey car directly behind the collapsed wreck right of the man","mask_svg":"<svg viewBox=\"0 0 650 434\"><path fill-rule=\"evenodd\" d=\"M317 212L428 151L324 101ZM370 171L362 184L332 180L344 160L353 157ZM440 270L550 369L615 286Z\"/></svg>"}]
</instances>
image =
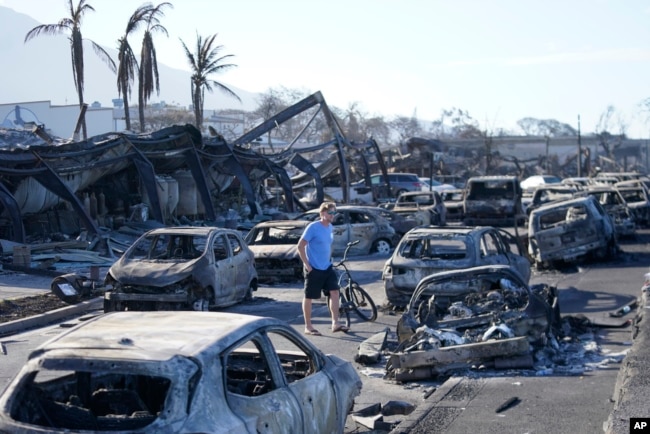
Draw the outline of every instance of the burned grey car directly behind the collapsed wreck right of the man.
<instances>
[{"instance_id":1,"label":"burned grey car directly behind the collapsed wreck right of the man","mask_svg":"<svg viewBox=\"0 0 650 434\"><path fill-rule=\"evenodd\" d=\"M531 264L523 245L503 229L417 227L402 237L384 264L384 292L390 304L403 307L429 274L494 264L509 265L525 282L530 279Z\"/></svg>"}]
</instances>

